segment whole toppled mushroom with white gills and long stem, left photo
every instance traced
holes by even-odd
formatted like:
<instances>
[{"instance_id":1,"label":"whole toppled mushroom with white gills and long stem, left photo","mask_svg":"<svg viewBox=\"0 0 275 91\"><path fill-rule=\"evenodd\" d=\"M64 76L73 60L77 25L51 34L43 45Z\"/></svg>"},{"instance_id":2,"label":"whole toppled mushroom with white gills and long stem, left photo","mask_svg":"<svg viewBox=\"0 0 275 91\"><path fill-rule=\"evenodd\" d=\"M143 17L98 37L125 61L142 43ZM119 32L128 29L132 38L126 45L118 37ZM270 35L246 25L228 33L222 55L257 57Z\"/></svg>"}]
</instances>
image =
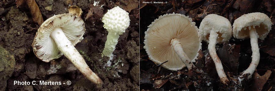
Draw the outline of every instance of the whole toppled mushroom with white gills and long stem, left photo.
<instances>
[{"instance_id":1,"label":"whole toppled mushroom with white gills and long stem, left photo","mask_svg":"<svg viewBox=\"0 0 275 91\"><path fill-rule=\"evenodd\" d=\"M85 32L84 21L73 14L60 14L47 19L38 29L32 43L35 56L45 62L63 54L91 82L101 85L101 79L88 67L75 49Z\"/></svg>"}]
</instances>

